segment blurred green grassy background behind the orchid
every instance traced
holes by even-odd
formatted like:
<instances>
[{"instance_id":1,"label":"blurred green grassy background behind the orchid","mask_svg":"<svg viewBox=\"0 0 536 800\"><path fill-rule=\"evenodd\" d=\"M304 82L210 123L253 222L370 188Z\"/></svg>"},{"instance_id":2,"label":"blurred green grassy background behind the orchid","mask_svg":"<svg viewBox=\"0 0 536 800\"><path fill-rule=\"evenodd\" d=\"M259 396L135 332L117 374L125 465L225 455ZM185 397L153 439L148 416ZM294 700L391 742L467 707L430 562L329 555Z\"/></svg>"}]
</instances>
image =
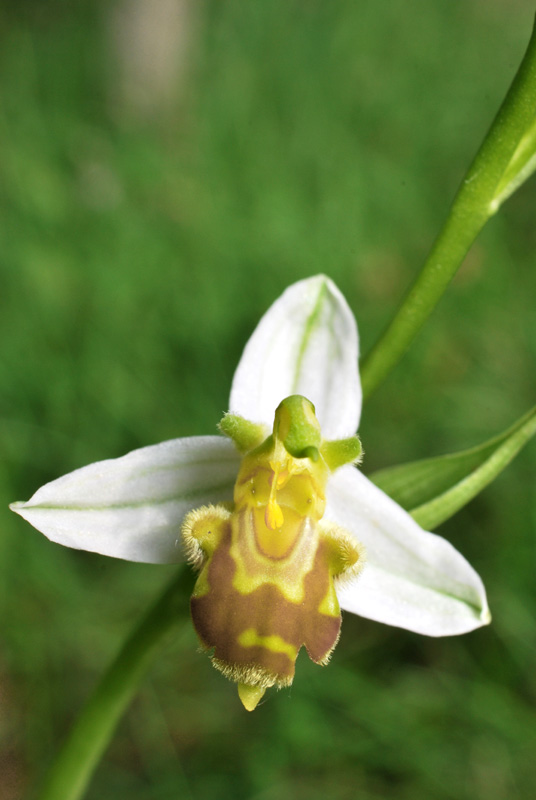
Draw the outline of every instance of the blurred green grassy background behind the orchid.
<instances>
[{"instance_id":1,"label":"blurred green grassy background behind the orchid","mask_svg":"<svg viewBox=\"0 0 536 800\"><path fill-rule=\"evenodd\" d=\"M326 272L366 351L421 265L528 41L528 0L4 0L1 507L94 460L214 432L256 321ZM469 447L534 402L536 182L474 246L364 411L364 468ZM532 798L529 446L442 526L493 624L347 615L253 714L185 616L89 800ZM1 512L0 797L36 785L171 574ZM58 798L61 800L61 798Z\"/></svg>"}]
</instances>

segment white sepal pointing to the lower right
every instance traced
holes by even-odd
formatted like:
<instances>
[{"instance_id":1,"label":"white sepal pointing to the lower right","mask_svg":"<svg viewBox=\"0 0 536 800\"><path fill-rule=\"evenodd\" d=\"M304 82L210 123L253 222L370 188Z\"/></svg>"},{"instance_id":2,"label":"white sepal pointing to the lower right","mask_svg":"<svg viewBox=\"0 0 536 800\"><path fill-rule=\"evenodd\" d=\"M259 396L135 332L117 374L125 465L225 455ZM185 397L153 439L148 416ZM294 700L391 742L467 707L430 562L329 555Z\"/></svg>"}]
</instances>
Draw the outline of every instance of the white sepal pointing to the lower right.
<instances>
[{"instance_id":1,"label":"white sepal pointing to the lower right","mask_svg":"<svg viewBox=\"0 0 536 800\"><path fill-rule=\"evenodd\" d=\"M367 550L362 574L338 592L341 608L428 636L490 621L484 586L465 558L357 469L335 473L327 501L326 521L344 526Z\"/></svg>"}]
</instances>

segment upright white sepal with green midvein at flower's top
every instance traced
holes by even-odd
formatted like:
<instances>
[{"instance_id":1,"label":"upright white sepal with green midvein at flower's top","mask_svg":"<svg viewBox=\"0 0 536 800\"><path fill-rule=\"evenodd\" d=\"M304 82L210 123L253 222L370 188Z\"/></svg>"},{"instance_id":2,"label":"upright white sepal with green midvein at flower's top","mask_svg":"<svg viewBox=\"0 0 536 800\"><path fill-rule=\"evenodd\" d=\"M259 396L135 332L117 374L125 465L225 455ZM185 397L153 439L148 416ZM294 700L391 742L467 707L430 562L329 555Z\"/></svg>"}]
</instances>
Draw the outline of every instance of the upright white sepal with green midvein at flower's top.
<instances>
[{"instance_id":1,"label":"upright white sepal with green midvein at flower's top","mask_svg":"<svg viewBox=\"0 0 536 800\"><path fill-rule=\"evenodd\" d=\"M275 301L249 339L235 372L230 408L273 425L285 397L315 405L325 439L352 436L361 414L354 316L324 275L294 283Z\"/></svg>"}]
</instances>

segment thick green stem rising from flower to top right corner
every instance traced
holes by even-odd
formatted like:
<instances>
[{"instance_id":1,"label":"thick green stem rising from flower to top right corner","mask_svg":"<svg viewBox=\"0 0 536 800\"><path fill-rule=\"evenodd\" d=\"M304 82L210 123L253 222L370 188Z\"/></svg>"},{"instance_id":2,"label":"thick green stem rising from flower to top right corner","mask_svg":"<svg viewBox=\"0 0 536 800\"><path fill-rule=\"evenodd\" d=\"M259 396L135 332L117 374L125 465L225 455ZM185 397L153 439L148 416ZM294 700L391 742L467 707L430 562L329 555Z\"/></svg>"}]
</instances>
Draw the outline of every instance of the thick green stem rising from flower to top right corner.
<instances>
[{"instance_id":1,"label":"thick green stem rising from flower to top right corner","mask_svg":"<svg viewBox=\"0 0 536 800\"><path fill-rule=\"evenodd\" d=\"M516 183L519 176L509 173L516 166L517 158L514 159L514 155L535 116L536 27L533 27L523 61L462 181L443 229L417 280L362 363L364 397L377 388L402 358L456 274L477 235L509 195L503 185L507 170L512 191L520 185L520 182ZM526 156L520 159L520 171L526 161ZM530 172L525 177L528 174Z\"/></svg>"}]
</instances>

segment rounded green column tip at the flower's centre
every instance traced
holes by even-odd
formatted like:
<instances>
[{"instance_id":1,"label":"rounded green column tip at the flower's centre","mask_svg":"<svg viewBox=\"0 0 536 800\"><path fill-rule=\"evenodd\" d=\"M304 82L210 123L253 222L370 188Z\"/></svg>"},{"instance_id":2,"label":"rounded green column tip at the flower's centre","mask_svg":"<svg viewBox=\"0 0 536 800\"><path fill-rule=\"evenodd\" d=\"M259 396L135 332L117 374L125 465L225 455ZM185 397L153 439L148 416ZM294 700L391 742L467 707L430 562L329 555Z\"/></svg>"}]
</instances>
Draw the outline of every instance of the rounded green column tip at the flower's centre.
<instances>
[{"instance_id":1,"label":"rounded green column tip at the flower's centre","mask_svg":"<svg viewBox=\"0 0 536 800\"><path fill-rule=\"evenodd\" d=\"M293 458L318 461L322 437L311 401L299 394L286 397L275 412L274 436Z\"/></svg>"}]
</instances>

